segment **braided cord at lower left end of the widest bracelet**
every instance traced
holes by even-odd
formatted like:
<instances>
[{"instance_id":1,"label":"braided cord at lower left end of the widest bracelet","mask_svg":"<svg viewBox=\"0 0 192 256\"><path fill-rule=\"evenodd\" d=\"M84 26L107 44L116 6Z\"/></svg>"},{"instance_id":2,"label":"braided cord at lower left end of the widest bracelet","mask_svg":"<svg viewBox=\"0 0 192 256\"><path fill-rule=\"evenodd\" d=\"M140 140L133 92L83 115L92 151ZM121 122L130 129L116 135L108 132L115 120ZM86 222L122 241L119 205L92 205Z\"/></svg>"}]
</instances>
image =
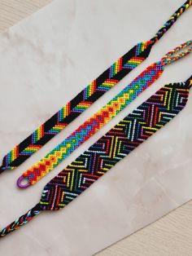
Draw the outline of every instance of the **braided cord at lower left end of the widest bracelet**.
<instances>
[{"instance_id":1,"label":"braided cord at lower left end of the widest bracelet","mask_svg":"<svg viewBox=\"0 0 192 256\"><path fill-rule=\"evenodd\" d=\"M33 207L32 210L28 210L27 214L22 215L20 218L17 218L7 227L3 228L0 232L0 238L7 236L7 234L14 232L18 228L24 226L24 224L31 221L35 216L41 213L41 205L37 204Z\"/></svg>"}]
</instances>

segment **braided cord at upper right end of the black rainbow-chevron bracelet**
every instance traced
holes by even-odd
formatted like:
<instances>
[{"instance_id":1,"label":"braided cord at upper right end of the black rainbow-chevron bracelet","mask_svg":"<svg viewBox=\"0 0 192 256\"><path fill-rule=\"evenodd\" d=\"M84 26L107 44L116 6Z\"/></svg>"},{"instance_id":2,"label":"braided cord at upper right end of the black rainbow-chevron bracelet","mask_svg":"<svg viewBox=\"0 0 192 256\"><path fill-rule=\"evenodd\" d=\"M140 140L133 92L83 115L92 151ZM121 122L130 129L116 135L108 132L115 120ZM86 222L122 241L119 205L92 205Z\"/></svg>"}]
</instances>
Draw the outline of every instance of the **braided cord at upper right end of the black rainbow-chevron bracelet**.
<instances>
[{"instance_id":1,"label":"braided cord at upper right end of the black rainbow-chevron bracelet","mask_svg":"<svg viewBox=\"0 0 192 256\"><path fill-rule=\"evenodd\" d=\"M159 41L160 38L164 36L164 33L168 31L172 27L177 19L192 5L192 0L186 1L173 15L168 19L168 21L164 24L164 26L159 29L159 31L155 34L154 38L151 38L151 41L155 44L155 42Z\"/></svg>"}]
</instances>

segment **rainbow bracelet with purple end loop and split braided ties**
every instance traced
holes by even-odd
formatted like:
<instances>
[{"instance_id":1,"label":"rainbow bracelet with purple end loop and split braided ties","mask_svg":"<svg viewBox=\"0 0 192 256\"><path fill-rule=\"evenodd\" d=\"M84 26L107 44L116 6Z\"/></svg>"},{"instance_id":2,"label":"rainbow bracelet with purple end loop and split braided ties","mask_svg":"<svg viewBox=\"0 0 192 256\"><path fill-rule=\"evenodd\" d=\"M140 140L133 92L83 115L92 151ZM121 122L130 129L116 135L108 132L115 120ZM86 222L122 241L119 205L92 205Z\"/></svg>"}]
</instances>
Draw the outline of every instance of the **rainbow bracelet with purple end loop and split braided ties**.
<instances>
[{"instance_id":1,"label":"rainbow bracelet with purple end loop and split braided ties","mask_svg":"<svg viewBox=\"0 0 192 256\"><path fill-rule=\"evenodd\" d=\"M182 49L185 49L185 51L177 54L177 52ZM143 90L146 90L148 86L151 86L151 84L164 72L166 64L180 60L185 55L190 54L191 51L192 40L169 51L159 62L151 64L151 66L146 68L146 70L135 78L133 82L126 86L124 90L121 90L116 97L111 99L107 105L101 108L98 113L94 114L93 117L89 118L89 120L79 126L72 135L69 135L67 139L64 139L63 142L48 153L46 157L43 157L35 165L26 170L18 179L18 186L20 188L28 188L30 185L37 183L39 179L53 170L55 166L58 166L61 161L89 139L91 135L94 135L100 128L111 121L112 118L116 117L116 115L128 106L137 95L140 95ZM22 185L22 180L24 178L28 180L28 183Z\"/></svg>"}]
</instances>

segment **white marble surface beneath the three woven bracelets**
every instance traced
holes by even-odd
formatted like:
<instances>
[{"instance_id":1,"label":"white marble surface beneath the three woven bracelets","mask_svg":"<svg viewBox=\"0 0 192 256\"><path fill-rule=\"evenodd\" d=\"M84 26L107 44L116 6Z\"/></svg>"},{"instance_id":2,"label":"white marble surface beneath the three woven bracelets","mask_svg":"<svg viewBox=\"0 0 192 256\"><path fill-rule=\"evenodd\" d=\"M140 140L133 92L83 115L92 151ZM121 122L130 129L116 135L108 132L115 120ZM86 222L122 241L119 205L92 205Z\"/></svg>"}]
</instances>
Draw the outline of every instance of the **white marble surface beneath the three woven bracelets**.
<instances>
[{"instance_id":1,"label":"white marble surface beneath the three woven bracelets","mask_svg":"<svg viewBox=\"0 0 192 256\"><path fill-rule=\"evenodd\" d=\"M183 0L55 0L0 35L0 157L72 99L135 43L150 39ZM167 7L168 5L168 7ZM147 14L147 15L146 15ZM152 20L152 22L151 22ZM192 55L164 76L33 188L16 179L148 64L192 38L192 10L156 44L144 64L125 77L89 112L68 126L15 171L1 175L1 227L24 214L55 174L166 82L191 75ZM192 198L192 95L168 126L116 165L63 210L45 213L2 239L7 256L86 256L137 231Z\"/></svg>"}]
</instances>

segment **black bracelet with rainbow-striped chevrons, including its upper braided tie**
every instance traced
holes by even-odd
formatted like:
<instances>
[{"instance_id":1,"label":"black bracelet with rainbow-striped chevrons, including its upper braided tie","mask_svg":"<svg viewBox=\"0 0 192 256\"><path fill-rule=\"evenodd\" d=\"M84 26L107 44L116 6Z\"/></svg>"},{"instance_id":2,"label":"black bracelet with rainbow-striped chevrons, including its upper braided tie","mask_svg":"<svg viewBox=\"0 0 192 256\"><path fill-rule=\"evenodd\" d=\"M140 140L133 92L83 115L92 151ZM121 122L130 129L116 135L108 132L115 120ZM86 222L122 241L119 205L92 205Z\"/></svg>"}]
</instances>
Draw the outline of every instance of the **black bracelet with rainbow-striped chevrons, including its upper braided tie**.
<instances>
[{"instance_id":1,"label":"black bracelet with rainbow-striped chevrons, including its upper braided tie","mask_svg":"<svg viewBox=\"0 0 192 256\"><path fill-rule=\"evenodd\" d=\"M171 28L172 24L181 16L181 14L192 5L192 0L186 1L164 24L163 28L159 29L155 37L147 42L140 42L130 51L123 55L119 60L116 60L110 68L107 68L97 79L91 82L84 90L76 95L68 104L50 117L48 121L39 126L37 130L24 139L20 144L13 148L7 156L3 158L0 173L3 170L13 170L20 166L28 157L37 152L50 139L59 134L68 124L76 117L80 116L91 104L104 95L107 90L125 77L133 68L146 60L150 54L151 47L161 38L164 33Z\"/></svg>"}]
</instances>

